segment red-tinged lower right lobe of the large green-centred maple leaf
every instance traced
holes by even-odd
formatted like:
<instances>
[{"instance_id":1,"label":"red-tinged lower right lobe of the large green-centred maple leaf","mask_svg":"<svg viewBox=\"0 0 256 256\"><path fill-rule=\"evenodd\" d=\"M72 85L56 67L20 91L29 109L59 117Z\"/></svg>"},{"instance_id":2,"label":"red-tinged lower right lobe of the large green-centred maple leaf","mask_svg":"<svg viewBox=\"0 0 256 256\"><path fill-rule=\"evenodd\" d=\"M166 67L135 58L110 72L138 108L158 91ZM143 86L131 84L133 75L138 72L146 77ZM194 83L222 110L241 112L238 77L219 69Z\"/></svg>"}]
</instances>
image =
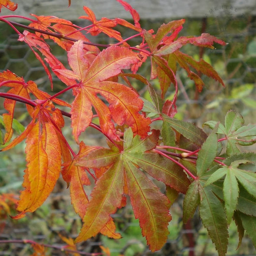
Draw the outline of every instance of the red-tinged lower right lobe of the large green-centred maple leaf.
<instances>
[{"instance_id":1,"label":"red-tinged lower right lobe of the large green-centred maple leaf","mask_svg":"<svg viewBox=\"0 0 256 256\"><path fill-rule=\"evenodd\" d=\"M169 200L135 165L126 162L125 176L128 184L135 218L139 219L142 235L146 237L152 252L166 243L169 215Z\"/></svg>"}]
</instances>

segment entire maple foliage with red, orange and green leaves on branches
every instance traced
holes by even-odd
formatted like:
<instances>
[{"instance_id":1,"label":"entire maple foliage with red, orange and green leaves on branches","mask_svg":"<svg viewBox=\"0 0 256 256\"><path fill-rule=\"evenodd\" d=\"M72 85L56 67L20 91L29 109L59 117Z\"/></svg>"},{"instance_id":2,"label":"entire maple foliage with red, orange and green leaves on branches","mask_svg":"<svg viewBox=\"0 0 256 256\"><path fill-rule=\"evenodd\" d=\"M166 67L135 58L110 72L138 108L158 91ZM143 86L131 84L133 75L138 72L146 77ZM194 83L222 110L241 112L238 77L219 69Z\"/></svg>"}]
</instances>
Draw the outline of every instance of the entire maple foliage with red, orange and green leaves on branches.
<instances>
[{"instance_id":1,"label":"entire maple foliage with red, orange and green leaves on branches","mask_svg":"<svg viewBox=\"0 0 256 256\"><path fill-rule=\"evenodd\" d=\"M130 12L134 24L120 18L97 20L88 7L84 7L85 16L80 17L91 22L86 27L53 16L19 16L30 22L28 26L10 20L17 15L0 16L41 62L51 87L54 86L53 74L66 85L50 95L38 89L35 82L25 81L10 70L0 74L1 89L8 88L0 92L5 98L6 110L0 119L6 130L1 151L26 140L24 190L16 208L20 213L13 218L24 217L41 206L61 174L70 189L74 210L83 221L75 241L63 238L70 248L75 249L75 243L99 232L120 239L111 214L124 207L129 196L150 249L153 252L161 249L171 221L169 208L179 193L185 195L184 223L199 207L202 222L219 255L226 254L228 225L232 219L239 233L239 245L246 230L256 246L256 155L241 152L238 147L256 142L256 125L244 125L243 117L230 110L225 124L204 123L212 129L207 135L193 124L175 119L178 65L195 82L199 92L204 87L200 73L224 86L211 65L203 59L194 60L180 48L192 44L213 49L214 43L226 43L207 33L178 37L183 19L161 25L156 33L145 30L141 28L137 11L123 0L117 2ZM17 4L1 0L2 7L15 11ZM117 25L134 31L134 35L124 39L115 30ZM17 30L19 26L25 28L23 33ZM93 43L86 33L92 36L104 33L116 43ZM141 38L137 46L128 43L134 37ZM49 39L67 52L69 67L52 54L46 41ZM150 80L158 78L160 93L150 80L139 74L141 65L148 59L151 61ZM150 101L139 95L130 78L145 84ZM69 90L74 96L72 102L57 98ZM172 100L165 97L168 90L174 90ZM16 102L26 104L30 123L13 139ZM63 111L63 107L70 111ZM63 116L71 118L78 153L62 133ZM155 121L161 122L161 130L151 128ZM81 133L89 126L102 132L108 148L80 141ZM95 180L90 200L84 189L90 184L88 175ZM149 176L163 182L166 193L162 193ZM9 210L4 201L0 201L0 205ZM33 247L44 252L41 245ZM106 248L104 251L108 252Z\"/></svg>"}]
</instances>

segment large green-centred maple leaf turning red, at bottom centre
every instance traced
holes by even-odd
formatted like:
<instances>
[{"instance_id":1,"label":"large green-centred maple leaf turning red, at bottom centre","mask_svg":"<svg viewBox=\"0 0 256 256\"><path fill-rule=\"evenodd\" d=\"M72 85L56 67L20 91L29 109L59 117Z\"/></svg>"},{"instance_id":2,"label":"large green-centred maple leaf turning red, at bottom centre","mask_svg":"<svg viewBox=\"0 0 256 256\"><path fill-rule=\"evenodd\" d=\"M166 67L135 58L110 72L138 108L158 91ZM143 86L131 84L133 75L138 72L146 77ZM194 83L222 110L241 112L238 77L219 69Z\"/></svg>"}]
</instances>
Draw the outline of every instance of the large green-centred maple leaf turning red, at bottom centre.
<instances>
[{"instance_id":1,"label":"large green-centred maple leaf turning red, at bottom centre","mask_svg":"<svg viewBox=\"0 0 256 256\"><path fill-rule=\"evenodd\" d=\"M171 220L169 200L141 169L183 193L190 182L181 168L174 166L167 158L150 152L156 147L158 136L159 131L152 130L150 136L141 140L138 135L134 137L129 128L124 133L123 147L112 144L109 144L110 149L96 147L87 156L81 157L78 166L92 169L108 166L108 169L91 192L76 242L100 232L110 215L122 206L124 194L128 194L150 249L161 249L167 239L167 226Z\"/></svg>"}]
</instances>

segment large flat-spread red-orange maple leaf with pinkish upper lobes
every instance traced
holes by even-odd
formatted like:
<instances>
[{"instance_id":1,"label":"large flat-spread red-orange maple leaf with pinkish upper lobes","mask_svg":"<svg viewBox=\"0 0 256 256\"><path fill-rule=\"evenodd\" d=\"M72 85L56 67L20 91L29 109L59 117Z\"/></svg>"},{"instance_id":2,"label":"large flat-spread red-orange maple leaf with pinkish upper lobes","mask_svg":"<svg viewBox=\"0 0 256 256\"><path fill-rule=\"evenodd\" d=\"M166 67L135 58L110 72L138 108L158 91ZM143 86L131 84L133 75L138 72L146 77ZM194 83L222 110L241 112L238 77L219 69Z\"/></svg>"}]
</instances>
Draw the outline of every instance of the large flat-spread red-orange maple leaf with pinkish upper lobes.
<instances>
[{"instance_id":1,"label":"large flat-spread red-orange maple leaf with pinkish upper lobes","mask_svg":"<svg viewBox=\"0 0 256 256\"><path fill-rule=\"evenodd\" d=\"M79 40L68 52L69 65L73 71L55 70L67 78L80 81L74 89L76 98L71 108L71 125L76 141L78 142L78 136L91 122L91 106L98 113L102 132L110 138L119 140L114 122L120 126L127 124L135 134L146 137L150 119L139 113L143 101L132 89L117 82L106 81L118 75L121 69L128 69L130 65L137 63L140 60L137 54L124 47L111 46L98 54L91 65L85 59L85 54L83 42ZM102 95L109 106L98 95Z\"/></svg>"}]
</instances>

